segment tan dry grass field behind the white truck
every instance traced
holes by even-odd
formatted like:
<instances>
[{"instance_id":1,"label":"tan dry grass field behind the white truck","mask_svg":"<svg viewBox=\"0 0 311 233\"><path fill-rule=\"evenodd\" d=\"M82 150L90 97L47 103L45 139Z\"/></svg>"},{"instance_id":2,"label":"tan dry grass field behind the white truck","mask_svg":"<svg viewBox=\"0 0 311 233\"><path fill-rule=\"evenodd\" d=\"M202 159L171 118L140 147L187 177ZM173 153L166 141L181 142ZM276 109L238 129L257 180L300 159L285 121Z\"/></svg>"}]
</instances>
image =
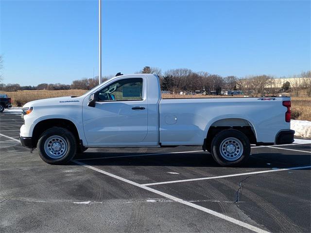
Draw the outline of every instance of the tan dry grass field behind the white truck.
<instances>
[{"instance_id":1,"label":"tan dry grass field behind the white truck","mask_svg":"<svg viewBox=\"0 0 311 233\"><path fill-rule=\"evenodd\" d=\"M32 100L47 99L62 96L81 96L86 90L38 90L38 91L16 91L16 92L2 92L12 98L13 106L22 106L26 102ZM162 94L162 98L230 98L231 96L204 96L204 95L173 95ZM234 96L242 97L242 96ZM292 97L292 118L298 120L311 121L311 98L310 97Z\"/></svg>"}]
</instances>

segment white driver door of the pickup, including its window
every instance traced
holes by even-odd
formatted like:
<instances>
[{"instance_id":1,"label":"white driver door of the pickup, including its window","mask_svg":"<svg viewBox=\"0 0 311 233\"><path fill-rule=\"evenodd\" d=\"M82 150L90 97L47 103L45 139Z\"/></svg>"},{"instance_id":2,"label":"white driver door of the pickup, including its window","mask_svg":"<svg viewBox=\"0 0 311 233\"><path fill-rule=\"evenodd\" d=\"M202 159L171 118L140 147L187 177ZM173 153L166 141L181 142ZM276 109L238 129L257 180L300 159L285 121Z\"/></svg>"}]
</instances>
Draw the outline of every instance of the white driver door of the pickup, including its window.
<instances>
[{"instance_id":1,"label":"white driver door of the pickup, including its window","mask_svg":"<svg viewBox=\"0 0 311 233\"><path fill-rule=\"evenodd\" d=\"M145 78L123 78L98 92L95 107L84 101L88 146L131 146L142 142L148 133L146 90Z\"/></svg>"}]
</instances>

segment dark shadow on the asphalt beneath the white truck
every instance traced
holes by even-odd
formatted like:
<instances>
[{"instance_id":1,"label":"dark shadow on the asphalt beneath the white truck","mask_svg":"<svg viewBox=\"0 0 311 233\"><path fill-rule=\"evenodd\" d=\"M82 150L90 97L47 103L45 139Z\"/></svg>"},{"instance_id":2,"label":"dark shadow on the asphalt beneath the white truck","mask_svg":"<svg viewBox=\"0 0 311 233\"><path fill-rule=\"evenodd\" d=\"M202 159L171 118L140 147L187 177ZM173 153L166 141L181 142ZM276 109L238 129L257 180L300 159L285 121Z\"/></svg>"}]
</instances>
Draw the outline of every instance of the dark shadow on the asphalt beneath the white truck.
<instances>
[{"instance_id":1,"label":"dark shadow on the asphalt beneath the white truck","mask_svg":"<svg viewBox=\"0 0 311 233\"><path fill-rule=\"evenodd\" d=\"M91 166L184 166L220 167L207 152L145 155L147 153L84 152L74 160ZM71 165L76 165L70 163ZM311 166L311 156L306 153L253 153L244 168L289 168ZM310 168L307 168L310 169Z\"/></svg>"}]
</instances>

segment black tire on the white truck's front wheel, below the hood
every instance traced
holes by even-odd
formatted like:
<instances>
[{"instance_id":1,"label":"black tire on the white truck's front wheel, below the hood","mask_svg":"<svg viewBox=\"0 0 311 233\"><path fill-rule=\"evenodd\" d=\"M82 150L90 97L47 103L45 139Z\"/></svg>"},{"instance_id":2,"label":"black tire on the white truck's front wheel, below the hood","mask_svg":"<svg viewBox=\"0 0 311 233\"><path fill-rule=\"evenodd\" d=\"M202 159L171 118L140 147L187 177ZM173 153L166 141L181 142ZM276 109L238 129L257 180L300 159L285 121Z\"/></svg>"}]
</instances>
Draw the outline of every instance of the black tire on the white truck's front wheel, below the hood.
<instances>
[{"instance_id":1,"label":"black tire on the white truck's front wheel, below the hood","mask_svg":"<svg viewBox=\"0 0 311 233\"><path fill-rule=\"evenodd\" d=\"M52 152L49 151L51 150L50 148L52 148L51 145L49 147L49 142L52 142L53 138L56 138L56 141L54 140L55 143L58 143L57 138L61 138L59 139L59 142L66 145L66 150L62 150L62 148L59 149L60 153L62 152L63 155L61 153L61 155L55 154L54 156L53 152L57 152L57 150L52 150ZM61 146L60 143L58 144ZM44 162L53 165L67 164L76 154L77 142L74 135L69 130L60 127L53 127L41 134L37 143L37 149L39 156ZM61 157L58 158L57 156Z\"/></svg>"}]
</instances>

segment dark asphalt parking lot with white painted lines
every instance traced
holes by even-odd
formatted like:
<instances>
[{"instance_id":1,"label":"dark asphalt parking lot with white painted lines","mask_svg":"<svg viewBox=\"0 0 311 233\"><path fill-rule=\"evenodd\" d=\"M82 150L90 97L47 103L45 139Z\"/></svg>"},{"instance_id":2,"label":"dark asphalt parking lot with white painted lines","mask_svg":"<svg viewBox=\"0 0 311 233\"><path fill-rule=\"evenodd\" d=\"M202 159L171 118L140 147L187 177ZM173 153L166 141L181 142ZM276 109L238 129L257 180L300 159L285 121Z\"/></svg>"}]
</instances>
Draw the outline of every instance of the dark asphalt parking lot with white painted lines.
<instances>
[{"instance_id":1,"label":"dark asphalt parking lot with white painted lines","mask_svg":"<svg viewBox=\"0 0 311 233\"><path fill-rule=\"evenodd\" d=\"M311 232L311 144L220 167L200 147L88 149L67 166L0 114L0 232Z\"/></svg>"}]
</instances>

